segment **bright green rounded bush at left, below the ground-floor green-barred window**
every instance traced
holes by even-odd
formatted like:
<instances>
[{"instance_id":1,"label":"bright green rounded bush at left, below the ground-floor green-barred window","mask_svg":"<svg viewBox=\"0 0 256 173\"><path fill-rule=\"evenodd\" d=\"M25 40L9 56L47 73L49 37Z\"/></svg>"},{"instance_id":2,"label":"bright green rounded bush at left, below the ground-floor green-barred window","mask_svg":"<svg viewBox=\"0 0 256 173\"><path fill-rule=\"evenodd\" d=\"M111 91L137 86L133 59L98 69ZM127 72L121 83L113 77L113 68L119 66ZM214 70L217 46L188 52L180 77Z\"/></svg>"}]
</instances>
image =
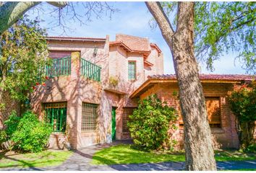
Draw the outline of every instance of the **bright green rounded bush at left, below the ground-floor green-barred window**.
<instances>
[{"instance_id":1,"label":"bright green rounded bush at left, below the ground-floor green-barred window","mask_svg":"<svg viewBox=\"0 0 256 173\"><path fill-rule=\"evenodd\" d=\"M18 117L14 112L4 122L7 140L12 141L12 149L17 151L42 151L51 135L51 125L40 122L30 111Z\"/></svg>"}]
</instances>

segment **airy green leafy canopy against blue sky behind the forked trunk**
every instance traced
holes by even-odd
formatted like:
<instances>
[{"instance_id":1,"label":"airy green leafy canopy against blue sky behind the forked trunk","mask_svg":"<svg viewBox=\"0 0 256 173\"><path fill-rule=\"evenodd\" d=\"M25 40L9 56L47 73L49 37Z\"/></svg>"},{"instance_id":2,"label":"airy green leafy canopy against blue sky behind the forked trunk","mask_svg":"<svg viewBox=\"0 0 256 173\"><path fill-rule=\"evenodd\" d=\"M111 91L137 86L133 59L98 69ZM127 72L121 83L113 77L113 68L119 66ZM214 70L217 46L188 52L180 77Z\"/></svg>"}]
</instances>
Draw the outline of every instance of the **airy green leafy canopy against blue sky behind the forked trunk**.
<instances>
[{"instance_id":1,"label":"airy green leafy canopy against blue sky behind the forked trunk","mask_svg":"<svg viewBox=\"0 0 256 173\"><path fill-rule=\"evenodd\" d=\"M176 2L161 2L176 29ZM195 2L195 56L213 71L224 53L235 53L248 73L256 74L256 3Z\"/></svg>"}]
</instances>

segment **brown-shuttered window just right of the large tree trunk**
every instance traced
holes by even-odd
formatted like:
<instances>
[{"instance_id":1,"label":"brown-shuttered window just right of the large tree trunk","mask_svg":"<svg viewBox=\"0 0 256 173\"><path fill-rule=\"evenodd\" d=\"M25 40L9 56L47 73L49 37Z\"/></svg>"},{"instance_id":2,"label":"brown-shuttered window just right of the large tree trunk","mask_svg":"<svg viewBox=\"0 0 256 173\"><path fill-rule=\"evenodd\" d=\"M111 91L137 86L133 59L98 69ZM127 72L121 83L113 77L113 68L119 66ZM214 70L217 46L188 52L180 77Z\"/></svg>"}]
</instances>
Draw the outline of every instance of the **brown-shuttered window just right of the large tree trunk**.
<instances>
[{"instance_id":1,"label":"brown-shuttered window just right of the large tree trunk","mask_svg":"<svg viewBox=\"0 0 256 173\"><path fill-rule=\"evenodd\" d=\"M205 97L208 120L211 128L221 128L220 97Z\"/></svg>"}]
</instances>

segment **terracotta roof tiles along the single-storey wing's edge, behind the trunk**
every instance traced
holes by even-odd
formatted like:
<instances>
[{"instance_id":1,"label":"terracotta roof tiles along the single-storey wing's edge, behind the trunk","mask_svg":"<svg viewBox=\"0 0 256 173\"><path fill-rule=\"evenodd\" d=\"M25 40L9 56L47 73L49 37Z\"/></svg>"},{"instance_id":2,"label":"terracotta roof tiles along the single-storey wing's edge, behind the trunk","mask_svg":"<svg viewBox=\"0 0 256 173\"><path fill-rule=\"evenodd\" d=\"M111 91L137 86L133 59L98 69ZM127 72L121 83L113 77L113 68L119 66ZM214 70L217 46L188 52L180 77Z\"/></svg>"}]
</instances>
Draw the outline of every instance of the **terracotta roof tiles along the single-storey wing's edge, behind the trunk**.
<instances>
[{"instance_id":1,"label":"terracotta roof tiles along the single-storey wing's edge, behind the trunk","mask_svg":"<svg viewBox=\"0 0 256 173\"><path fill-rule=\"evenodd\" d=\"M255 76L244 74L200 74L201 80L252 81ZM175 74L148 76L148 79L176 79Z\"/></svg>"}]
</instances>

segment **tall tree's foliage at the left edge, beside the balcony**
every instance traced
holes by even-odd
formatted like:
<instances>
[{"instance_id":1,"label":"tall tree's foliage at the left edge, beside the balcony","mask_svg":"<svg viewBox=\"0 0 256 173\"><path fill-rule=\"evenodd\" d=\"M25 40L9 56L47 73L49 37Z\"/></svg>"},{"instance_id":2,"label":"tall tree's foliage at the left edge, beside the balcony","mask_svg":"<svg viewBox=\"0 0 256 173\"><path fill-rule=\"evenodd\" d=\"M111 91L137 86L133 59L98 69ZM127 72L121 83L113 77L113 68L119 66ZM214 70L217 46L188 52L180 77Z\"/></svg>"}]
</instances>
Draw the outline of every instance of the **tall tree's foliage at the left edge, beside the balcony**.
<instances>
[{"instance_id":1,"label":"tall tree's foliage at the left edge, beside the balcony","mask_svg":"<svg viewBox=\"0 0 256 173\"><path fill-rule=\"evenodd\" d=\"M45 36L46 31L40 29L38 21L26 18L0 35L1 92L8 91L12 98L25 100L27 92L44 80L48 63Z\"/></svg>"}]
</instances>

